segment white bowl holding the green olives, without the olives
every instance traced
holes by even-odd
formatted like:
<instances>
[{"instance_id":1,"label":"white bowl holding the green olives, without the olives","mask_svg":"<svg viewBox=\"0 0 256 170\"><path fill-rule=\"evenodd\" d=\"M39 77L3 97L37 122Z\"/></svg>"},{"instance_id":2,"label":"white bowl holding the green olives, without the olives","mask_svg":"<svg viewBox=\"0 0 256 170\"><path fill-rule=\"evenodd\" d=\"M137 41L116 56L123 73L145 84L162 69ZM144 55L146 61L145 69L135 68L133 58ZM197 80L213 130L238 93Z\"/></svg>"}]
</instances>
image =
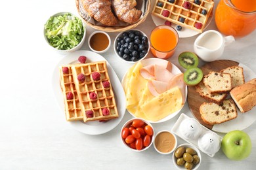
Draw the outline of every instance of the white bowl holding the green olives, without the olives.
<instances>
[{"instance_id":1,"label":"white bowl holding the green olives, without the olives","mask_svg":"<svg viewBox=\"0 0 256 170\"><path fill-rule=\"evenodd\" d=\"M175 157L175 152L178 148L180 147L185 147L185 148L192 148L196 151L196 154L198 155L198 157L200 158L200 161L198 162L198 164L196 165L193 165L192 169L193 170L196 170L198 169L198 167L200 167L200 164L201 164L201 161L202 161L202 156L201 156L201 153L200 153L200 150L198 150L198 148L196 148L194 145L192 144L188 144L188 143L185 143L185 144L181 144L179 146L177 146L177 148L175 149L175 151L173 152L173 164L175 165L175 167L177 167L177 169L181 169L181 170L185 170L186 168L181 165L178 165L177 164L177 158Z\"/></svg>"}]
</instances>

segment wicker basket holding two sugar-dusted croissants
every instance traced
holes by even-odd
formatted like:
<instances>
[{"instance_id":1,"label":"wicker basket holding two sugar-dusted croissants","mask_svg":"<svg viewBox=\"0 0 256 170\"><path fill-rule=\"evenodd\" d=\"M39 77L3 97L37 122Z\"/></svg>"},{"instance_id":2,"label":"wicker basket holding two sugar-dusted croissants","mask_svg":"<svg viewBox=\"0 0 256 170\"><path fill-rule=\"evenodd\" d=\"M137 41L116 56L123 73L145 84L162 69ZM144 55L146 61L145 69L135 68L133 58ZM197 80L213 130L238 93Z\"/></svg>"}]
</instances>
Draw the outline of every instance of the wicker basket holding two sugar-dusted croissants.
<instances>
[{"instance_id":1,"label":"wicker basket holding two sugar-dusted croissants","mask_svg":"<svg viewBox=\"0 0 256 170\"><path fill-rule=\"evenodd\" d=\"M150 0L75 0L84 22L91 27L120 32L137 27L150 12Z\"/></svg>"}]
</instances>

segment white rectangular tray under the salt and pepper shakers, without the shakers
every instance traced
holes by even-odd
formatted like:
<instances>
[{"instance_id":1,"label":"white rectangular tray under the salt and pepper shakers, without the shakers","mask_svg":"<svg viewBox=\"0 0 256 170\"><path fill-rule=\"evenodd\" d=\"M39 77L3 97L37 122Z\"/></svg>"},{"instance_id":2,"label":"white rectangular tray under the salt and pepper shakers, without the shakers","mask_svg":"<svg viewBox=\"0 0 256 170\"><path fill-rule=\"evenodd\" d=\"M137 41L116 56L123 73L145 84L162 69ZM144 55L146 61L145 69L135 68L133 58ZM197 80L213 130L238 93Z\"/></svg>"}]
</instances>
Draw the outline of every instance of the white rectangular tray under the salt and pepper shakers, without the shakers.
<instances>
[{"instance_id":1,"label":"white rectangular tray under the salt and pepper shakers, without the shakers","mask_svg":"<svg viewBox=\"0 0 256 170\"><path fill-rule=\"evenodd\" d=\"M173 126L173 128L171 129L171 131L172 131L173 133L175 133L175 135L181 137L181 139L183 139L183 140L186 141L187 143L190 143L190 144L196 146L196 148L200 149L200 148L198 147L198 140L186 140L186 139L185 139L184 137L182 137L182 135L181 135L181 131L180 131L180 129L179 129L179 126L180 126L181 122L182 122L183 120L187 119L187 118L190 118L190 117L189 117L189 116L186 116L186 114L182 113L181 116L179 116L179 118L178 118L178 120L176 121L176 123L175 123L175 125ZM194 119L194 120L196 120L196 119ZM196 121L198 122L198 120L196 120ZM213 132L213 131L207 129L206 127L202 126L202 124L200 124L200 122L198 122L198 124L201 126L202 134L203 134L203 133L207 133L207 132L209 132L209 133L215 133L215 132ZM215 133L215 134L218 135L217 133ZM218 135L218 136L219 136L219 135ZM219 136L219 137L220 137L221 140L223 139L221 136ZM201 150L201 151L202 151L202 150ZM203 151L202 151L202 152L203 152ZM208 156L211 156L211 157L215 156L215 154L207 154L207 155L208 155Z\"/></svg>"}]
</instances>

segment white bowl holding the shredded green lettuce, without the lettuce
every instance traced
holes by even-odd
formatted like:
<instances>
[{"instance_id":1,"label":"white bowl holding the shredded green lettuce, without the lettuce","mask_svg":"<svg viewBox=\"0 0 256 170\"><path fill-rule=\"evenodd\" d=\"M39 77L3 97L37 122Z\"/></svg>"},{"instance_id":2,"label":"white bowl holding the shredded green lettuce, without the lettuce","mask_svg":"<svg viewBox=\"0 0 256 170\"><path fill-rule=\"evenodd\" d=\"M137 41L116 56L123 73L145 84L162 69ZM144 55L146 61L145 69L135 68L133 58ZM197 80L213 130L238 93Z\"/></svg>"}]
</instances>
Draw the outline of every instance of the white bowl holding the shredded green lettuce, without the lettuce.
<instances>
[{"instance_id":1,"label":"white bowl holding the shredded green lettuce, without the lettuce","mask_svg":"<svg viewBox=\"0 0 256 170\"><path fill-rule=\"evenodd\" d=\"M58 13L54 14L51 17L60 16L60 15L64 15L64 14L72 14L72 13L70 13L70 12L58 12ZM72 16L75 16L75 17L79 18L79 20L81 20L81 18L79 16L76 16L75 14L72 14ZM79 44L77 44L77 46L74 46L74 48L69 49L69 50L59 50L59 49L54 48L53 46L51 46L51 44L49 44L49 40L47 39L47 36L45 35L45 26L44 26L43 36L45 37L45 41L47 42L47 44L49 44L49 46L51 48L53 48L56 52L59 52L60 54L68 54L70 52L74 52L76 50L79 50L83 46L83 43L85 42L85 37L86 37L85 23L83 22L83 20L81 20L81 22L83 23L83 29L84 29L83 38L81 39Z\"/></svg>"}]
</instances>

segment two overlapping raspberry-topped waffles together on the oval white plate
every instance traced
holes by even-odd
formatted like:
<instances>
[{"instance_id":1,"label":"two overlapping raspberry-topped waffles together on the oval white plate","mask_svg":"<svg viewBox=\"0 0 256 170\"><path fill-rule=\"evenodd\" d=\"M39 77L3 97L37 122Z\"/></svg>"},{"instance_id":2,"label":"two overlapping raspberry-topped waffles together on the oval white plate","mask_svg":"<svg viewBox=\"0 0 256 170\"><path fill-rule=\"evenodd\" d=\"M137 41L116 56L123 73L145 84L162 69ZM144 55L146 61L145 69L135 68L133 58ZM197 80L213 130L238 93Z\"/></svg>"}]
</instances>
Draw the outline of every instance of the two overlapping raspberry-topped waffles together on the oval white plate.
<instances>
[{"instance_id":1,"label":"two overlapping raspberry-topped waffles together on the oval white plate","mask_svg":"<svg viewBox=\"0 0 256 170\"><path fill-rule=\"evenodd\" d=\"M119 116L106 61L62 65L59 70L66 120L87 122ZM93 73L98 74L96 80Z\"/></svg>"}]
</instances>

